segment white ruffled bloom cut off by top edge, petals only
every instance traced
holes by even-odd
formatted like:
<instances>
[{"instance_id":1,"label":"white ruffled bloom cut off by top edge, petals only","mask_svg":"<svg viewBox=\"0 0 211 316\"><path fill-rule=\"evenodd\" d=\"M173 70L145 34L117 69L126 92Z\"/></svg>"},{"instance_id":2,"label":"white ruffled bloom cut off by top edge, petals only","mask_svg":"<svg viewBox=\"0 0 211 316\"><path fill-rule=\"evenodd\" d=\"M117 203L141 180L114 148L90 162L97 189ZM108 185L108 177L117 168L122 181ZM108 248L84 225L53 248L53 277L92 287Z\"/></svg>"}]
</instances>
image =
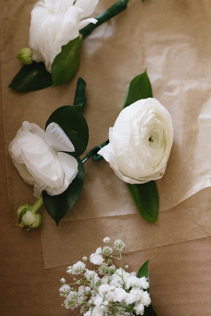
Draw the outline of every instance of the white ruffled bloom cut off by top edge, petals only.
<instances>
[{"instance_id":1,"label":"white ruffled bloom cut off by top edge, petals only","mask_svg":"<svg viewBox=\"0 0 211 316\"><path fill-rule=\"evenodd\" d=\"M31 12L29 46L36 62L44 61L51 72L54 58L61 47L79 36L79 30L91 23L98 0L40 0Z\"/></svg>"}]
</instances>

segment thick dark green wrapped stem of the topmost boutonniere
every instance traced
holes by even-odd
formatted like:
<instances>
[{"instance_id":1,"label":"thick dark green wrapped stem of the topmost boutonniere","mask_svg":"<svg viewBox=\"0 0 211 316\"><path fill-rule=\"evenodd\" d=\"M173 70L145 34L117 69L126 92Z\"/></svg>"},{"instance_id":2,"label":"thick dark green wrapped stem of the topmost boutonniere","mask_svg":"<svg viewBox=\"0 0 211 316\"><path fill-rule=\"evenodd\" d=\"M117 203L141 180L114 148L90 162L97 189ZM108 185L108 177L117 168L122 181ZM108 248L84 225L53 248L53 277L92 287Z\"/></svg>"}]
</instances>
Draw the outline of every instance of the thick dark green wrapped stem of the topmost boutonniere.
<instances>
[{"instance_id":1,"label":"thick dark green wrapped stem of the topmost boutonniere","mask_svg":"<svg viewBox=\"0 0 211 316\"><path fill-rule=\"evenodd\" d=\"M97 23L89 23L87 26L82 28L79 32L82 34L83 39L85 39L87 36L89 36L92 31L101 25L102 23L110 20L115 15L119 14L123 10L127 8L127 3L129 0L119 0L114 5L112 5L109 9L105 10L102 14L98 15L96 17Z\"/></svg>"}]
</instances>

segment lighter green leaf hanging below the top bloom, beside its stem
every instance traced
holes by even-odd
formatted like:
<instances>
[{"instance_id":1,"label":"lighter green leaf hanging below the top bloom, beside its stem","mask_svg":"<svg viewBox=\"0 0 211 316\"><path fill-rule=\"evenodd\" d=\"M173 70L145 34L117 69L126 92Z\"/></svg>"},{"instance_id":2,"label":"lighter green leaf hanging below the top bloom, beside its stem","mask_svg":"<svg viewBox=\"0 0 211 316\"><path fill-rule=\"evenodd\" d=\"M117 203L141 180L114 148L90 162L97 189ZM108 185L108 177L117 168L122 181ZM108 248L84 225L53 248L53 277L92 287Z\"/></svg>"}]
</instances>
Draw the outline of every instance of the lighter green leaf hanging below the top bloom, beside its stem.
<instances>
[{"instance_id":1,"label":"lighter green leaf hanging below the top bloom, beside its stem","mask_svg":"<svg viewBox=\"0 0 211 316\"><path fill-rule=\"evenodd\" d=\"M51 73L53 88L71 80L78 71L82 35L62 46L61 52L54 58Z\"/></svg>"}]
</instances>

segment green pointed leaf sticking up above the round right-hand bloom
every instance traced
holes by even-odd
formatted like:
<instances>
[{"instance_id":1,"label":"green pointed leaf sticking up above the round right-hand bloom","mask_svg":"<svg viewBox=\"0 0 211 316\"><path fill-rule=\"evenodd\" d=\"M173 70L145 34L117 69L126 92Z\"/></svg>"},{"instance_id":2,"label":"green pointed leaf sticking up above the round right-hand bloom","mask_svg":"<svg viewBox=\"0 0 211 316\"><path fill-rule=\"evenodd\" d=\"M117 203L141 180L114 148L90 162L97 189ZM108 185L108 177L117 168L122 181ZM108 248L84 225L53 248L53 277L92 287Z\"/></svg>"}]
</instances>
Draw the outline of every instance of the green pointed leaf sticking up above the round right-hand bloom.
<instances>
[{"instance_id":1,"label":"green pointed leaf sticking up above the round right-hand bloom","mask_svg":"<svg viewBox=\"0 0 211 316\"><path fill-rule=\"evenodd\" d=\"M122 110L138 100L147 98L152 98L152 87L145 70L130 82Z\"/></svg>"}]
</instances>

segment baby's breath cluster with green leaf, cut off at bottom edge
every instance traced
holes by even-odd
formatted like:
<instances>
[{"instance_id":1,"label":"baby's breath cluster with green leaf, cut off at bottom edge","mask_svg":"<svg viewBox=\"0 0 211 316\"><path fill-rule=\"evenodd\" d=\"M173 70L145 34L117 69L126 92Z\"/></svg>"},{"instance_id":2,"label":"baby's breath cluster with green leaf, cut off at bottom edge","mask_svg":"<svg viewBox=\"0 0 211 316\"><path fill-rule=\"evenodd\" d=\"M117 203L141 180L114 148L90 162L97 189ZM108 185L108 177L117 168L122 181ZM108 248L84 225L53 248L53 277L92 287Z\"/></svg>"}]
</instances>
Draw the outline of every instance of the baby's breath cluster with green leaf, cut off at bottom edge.
<instances>
[{"instance_id":1,"label":"baby's breath cluster with green leaf, cut off at bottom edge","mask_svg":"<svg viewBox=\"0 0 211 316\"><path fill-rule=\"evenodd\" d=\"M106 244L98 247L90 255L93 270L86 267L87 257L67 267L67 274L72 276L72 282L65 278L60 280L60 296L65 298L66 309L74 310L80 307L80 314L84 316L106 315L145 315L158 316L152 307L150 298L149 271L147 260L136 274L127 272L121 257L121 250L125 247L122 240L117 239L114 247L110 247L110 238L103 239ZM113 251L117 255L112 255ZM120 260L120 268L116 268L114 261Z\"/></svg>"}]
</instances>

